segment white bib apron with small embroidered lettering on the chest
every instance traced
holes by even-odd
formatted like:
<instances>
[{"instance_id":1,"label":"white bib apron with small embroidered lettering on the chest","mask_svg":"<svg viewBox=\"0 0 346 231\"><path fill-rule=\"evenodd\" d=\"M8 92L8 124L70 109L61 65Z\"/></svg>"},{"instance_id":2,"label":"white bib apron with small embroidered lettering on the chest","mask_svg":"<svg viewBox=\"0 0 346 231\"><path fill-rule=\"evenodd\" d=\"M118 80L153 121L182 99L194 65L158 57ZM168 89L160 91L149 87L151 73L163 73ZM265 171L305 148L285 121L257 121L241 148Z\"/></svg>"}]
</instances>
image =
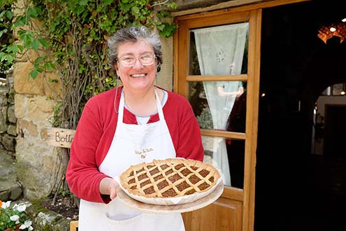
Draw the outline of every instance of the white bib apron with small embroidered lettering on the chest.
<instances>
[{"instance_id":1,"label":"white bib apron with small embroidered lettering on the chest","mask_svg":"<svg viewBox=\"0 0 346 231\"><path fill-rule=\"evenodd\" d=\"M175 158L175 149L169 134L159 97L159 121L145 125L123 123L124 93L120 97L117 130L110 149L99 167L108 176L119 176L130 165L151 162L153 159ZM122 231L157 230L184 231L181 214L146 214L127 207L117 198L109 204L80 200L78 230Z\"/></svg>"}]
</instances>

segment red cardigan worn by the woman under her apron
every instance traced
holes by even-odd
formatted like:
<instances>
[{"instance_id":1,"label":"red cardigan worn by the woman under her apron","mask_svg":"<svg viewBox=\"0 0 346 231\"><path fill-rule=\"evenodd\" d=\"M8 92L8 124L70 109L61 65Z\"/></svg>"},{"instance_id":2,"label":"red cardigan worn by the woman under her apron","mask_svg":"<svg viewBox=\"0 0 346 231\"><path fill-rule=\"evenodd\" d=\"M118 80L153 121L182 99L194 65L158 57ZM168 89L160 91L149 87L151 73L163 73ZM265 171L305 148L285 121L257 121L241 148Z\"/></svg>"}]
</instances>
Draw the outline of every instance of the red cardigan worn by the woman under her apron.
<instances>
[{"instance_id":1,"label":"red cardigan worn by the woman under her apron","mask_svg":"<svg viewBox=\"0 0 346 231\"><path fill-rule=\"evenodd\" d=\"M116 106L119 107L121 87L118 89ZM163 111L171 134L176 156L203 160L203 146L199 124L187 99L180 94L168 92ZM89 99L82 112L71 144L71 156L66 181L72 193L89 202L109 202L101 197L99 184L106 175L99 166L106 157L117 127L114 109L115 89ZM158 114L148 123L159 120ZM137 124L136 116L124 109L124 123Z\"/></svg>"}]
</instances>

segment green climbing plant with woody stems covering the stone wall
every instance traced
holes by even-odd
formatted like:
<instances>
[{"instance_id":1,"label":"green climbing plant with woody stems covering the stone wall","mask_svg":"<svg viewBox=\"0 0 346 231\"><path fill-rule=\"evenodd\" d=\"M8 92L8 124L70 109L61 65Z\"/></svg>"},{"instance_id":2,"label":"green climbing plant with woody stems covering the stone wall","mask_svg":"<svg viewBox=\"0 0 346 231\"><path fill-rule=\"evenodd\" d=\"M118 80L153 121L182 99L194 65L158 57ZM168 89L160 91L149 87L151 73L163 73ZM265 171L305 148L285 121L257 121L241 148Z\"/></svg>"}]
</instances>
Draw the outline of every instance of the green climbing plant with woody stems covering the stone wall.
<instances>
[{"instance_id":1,"label":"green climbing plant with woody stems covering the stone wall","mask_svg":"<svg viewBox=\"0 0 346 231\"><path fill-rule=\"evenodd\" d=\"M87 100L115 86L106 60L108 36L131 25L155 27L161 36L172 36L177 26L166 20L171 15L162 6L169 9L176 4L171 0L0 0L0 39L6 38L1 43L1 65L8 68L28 51L34 52L29 77L62 86L53 127L75 129ZM69 153L62 157L66 158Z\"/></svg>"}]
</instances>

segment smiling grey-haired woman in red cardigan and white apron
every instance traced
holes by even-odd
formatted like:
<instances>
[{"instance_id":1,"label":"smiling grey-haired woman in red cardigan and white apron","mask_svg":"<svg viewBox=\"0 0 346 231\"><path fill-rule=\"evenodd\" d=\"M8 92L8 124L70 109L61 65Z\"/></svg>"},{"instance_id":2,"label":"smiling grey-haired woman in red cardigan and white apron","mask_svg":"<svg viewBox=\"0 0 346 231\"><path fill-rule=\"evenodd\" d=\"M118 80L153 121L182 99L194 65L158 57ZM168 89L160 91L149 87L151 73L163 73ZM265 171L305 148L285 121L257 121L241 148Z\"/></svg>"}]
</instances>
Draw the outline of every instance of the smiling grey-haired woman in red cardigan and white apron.
<instances>
[{"instance_id":1,"label":"smiling grey-haired woman in red cardigan and white apron","mask_svg":"<svg viewBox=\"0 0 346 231\"><path fill-rule=\"evenodd\" d=\"M146 27L117 31L108 40L108 59L123 86L85 105L66 172L72 193L81 198L78 229L185 230L180 214L145 214L122 204L115 177L153 159L203 160L192 108L184 97L154 85L161 41Z\"/></svg>"}]
</instances>

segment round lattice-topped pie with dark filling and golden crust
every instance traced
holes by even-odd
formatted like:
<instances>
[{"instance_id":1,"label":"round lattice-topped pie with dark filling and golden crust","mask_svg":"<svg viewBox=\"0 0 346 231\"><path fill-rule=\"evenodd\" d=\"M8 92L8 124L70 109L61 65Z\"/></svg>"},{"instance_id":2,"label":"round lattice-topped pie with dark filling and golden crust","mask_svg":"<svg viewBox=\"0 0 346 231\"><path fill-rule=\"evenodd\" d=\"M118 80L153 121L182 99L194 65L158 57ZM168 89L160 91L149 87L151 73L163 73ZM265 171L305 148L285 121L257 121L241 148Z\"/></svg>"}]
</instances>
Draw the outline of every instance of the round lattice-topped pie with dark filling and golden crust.
<instances>
[{"instance_id":1,"label":"round lattice-topped pie with dark filling and golden crust","mask_svg":"<svg viewBox=\"0 0 346 231\"><path fill-rule=\"evenodd\" d=\"M172 158L133 165L120 175L120 182L133 195L168 198L205 192L219 177L208 163Z\"/></svg>"}]
</instances>

